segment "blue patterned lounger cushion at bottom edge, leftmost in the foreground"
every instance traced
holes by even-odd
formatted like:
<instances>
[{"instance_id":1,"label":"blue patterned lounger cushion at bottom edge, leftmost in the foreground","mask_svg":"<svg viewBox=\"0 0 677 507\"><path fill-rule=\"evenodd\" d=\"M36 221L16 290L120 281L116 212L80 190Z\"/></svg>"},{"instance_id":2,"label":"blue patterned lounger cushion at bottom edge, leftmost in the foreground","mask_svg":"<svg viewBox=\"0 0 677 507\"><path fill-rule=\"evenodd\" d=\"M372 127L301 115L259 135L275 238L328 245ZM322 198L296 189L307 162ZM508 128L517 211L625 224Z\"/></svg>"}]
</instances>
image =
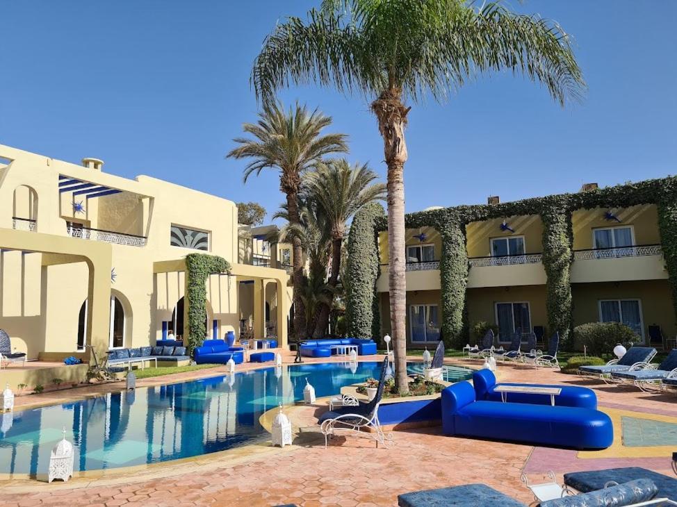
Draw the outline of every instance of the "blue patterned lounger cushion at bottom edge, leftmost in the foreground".
<instances>
[{"instance_id":1,"label":"blue patterned lounger cushion at bottom edge, leftmost in the foreground","mask_svg":"<svg viewBox=\"0 0 677 507\"><path fill-rule=\"evenodd\" d=\"M485 484L465 484L453 488L415 491L398 495L400 507L501 506L524 507L519 501Z\"/></svg>"}]
</instances>

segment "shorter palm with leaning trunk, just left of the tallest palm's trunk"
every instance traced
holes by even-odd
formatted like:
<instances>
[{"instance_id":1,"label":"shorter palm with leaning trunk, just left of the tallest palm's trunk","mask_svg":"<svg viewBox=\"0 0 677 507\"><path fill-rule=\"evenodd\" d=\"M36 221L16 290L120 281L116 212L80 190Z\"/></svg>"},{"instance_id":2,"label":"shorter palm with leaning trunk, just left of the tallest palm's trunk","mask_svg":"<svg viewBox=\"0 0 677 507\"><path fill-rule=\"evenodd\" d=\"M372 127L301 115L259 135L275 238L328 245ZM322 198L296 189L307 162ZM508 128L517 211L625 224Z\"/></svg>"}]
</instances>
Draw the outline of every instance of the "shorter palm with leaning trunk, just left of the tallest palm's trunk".
<instances>
[{"instance_id":1,"label":"shorter palm with leaning trunk, just left of the tallest palm's trunk","mask_svg":"<svg viewBox=\"0 0 677 507\"><path fill-rule=\"evenodd\" d=\"M386 185L374 183L377 178L378 175L368 165L355 164L351 167L345 158L320 163L316 171L308 172L305 176L309 199L315 201L327 217L332 240L332 265L327 281L328 302L320 307L313 338L320 338L329 322L338 274L341 272L345 223L362 206L386 197Z\"/></svg>"}]
</instances>

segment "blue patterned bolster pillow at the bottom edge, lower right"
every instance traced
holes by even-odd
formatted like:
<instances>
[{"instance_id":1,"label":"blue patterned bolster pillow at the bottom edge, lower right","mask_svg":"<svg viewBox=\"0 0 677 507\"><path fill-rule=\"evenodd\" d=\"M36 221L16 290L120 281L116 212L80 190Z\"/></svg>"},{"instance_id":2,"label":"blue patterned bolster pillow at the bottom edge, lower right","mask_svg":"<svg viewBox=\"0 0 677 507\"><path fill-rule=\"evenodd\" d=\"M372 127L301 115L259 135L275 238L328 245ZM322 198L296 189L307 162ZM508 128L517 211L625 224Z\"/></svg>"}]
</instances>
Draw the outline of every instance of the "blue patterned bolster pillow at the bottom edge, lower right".
<instances>
[{"instance_id":1,"label":"blue patterned bolster pillow at the bottom edge, lower right","mask_svg":"<svg viewBox=\"0 0 677 507\"><path fill-rule=\"evenodd\" d=\"M617 507L639 504L655 497L658 488L649 479L637 479L589 493L541 502L541 507Z\"/></svg>"}]
</instances>

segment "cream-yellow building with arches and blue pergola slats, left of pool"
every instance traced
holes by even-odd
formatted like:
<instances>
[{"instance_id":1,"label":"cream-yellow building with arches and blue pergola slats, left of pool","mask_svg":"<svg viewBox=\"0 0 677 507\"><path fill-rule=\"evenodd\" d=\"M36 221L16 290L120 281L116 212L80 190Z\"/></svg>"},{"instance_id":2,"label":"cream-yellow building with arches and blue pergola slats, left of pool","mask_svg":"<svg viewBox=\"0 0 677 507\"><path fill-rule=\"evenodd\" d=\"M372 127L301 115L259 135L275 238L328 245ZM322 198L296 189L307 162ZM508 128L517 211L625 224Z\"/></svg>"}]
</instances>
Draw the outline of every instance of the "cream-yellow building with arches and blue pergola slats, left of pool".
<instances>
[{"instance_id":1,"label":"cream-yellow building with arches and blue pergola slats, left of pool","mask_svg":"<svg viewBox=\"0 0 677 507\"><path fill-rule=\"evenodd\" d=\"M195 252L231 264L206 281L209 338L240 333L246 314L255 338L286 345L281 245L279 262L260 263L243 249L234 202L103 165L0 145L0 329L17 351L63 360L85 344L104 352L184 335L183 258Z\"/></svg>"}]
</instances>

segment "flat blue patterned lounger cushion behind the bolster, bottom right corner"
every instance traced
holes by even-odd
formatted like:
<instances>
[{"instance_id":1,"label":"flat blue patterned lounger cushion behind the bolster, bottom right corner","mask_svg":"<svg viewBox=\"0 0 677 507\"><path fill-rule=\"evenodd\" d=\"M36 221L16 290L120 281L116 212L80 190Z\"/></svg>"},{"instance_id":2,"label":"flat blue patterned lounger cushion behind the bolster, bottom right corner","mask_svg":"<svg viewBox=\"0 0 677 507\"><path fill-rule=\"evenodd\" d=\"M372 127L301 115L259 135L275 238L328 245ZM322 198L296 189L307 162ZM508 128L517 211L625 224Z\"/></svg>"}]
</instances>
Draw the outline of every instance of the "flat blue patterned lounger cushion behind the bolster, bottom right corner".
<instances>
[{"instance_id":1,"label":"flat blue patterned lounger cushion behind the bolster, bottom right corner","mask_svg":"<svg viewBox=\"0 0 677 507\"><path fill-rule=\"evenodd\" d=\"M564 474L564 484L580 492L601 490L609 481L619 484L635 479L649 479L658 488L656 497L677 499L677 479L641 467L607 468Z\"/></svg>"}]
</instances>

